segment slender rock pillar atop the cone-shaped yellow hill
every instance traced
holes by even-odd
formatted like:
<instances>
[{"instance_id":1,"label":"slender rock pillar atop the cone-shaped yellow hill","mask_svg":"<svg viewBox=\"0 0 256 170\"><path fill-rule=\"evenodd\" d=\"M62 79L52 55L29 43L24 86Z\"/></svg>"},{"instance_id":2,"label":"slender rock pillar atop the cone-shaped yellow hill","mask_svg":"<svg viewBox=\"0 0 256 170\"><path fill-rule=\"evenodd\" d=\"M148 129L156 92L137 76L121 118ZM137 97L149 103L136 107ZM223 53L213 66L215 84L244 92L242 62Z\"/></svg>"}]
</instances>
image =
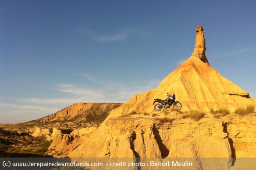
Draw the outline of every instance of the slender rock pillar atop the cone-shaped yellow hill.
<instances>
[{"instance_id":1,"label":"slender rock pillar atop the cone-shaped yellow hill","mask_svg":"<svg viewBox=\"0 0 256 170\"><path fill-rule=\"evenodd\" d=\"M203 30L203 27L201 25L196 26L196 45L193 53L196 54L196 56L198 56L199 59L201 59L203 62L207 62L209 64L208 59L205 56L206 47L204 32L205 31Z\"/></svg>"}]
</instances>

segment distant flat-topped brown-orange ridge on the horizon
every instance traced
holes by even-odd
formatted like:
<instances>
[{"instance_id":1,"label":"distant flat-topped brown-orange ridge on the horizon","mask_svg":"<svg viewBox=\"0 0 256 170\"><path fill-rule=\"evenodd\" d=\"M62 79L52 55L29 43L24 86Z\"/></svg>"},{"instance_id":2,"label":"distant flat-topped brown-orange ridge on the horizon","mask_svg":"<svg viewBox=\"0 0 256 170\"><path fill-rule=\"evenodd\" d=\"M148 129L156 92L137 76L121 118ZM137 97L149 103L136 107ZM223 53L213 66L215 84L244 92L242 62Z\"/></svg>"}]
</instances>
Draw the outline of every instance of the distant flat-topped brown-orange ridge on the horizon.
<instances>
[{"instance_id":1,"label":"distant flat-topped brown-orange ridge on the horizon","mask_svg":"<svg viewBox=\"0 0 256 170\"><path fill-rule=\"evenodd\" d=\"M93 122L102 123L112 110L121 105L122 103L75 103L46 117L13 126L91 127Z\"/></svg>"}]
</instances>

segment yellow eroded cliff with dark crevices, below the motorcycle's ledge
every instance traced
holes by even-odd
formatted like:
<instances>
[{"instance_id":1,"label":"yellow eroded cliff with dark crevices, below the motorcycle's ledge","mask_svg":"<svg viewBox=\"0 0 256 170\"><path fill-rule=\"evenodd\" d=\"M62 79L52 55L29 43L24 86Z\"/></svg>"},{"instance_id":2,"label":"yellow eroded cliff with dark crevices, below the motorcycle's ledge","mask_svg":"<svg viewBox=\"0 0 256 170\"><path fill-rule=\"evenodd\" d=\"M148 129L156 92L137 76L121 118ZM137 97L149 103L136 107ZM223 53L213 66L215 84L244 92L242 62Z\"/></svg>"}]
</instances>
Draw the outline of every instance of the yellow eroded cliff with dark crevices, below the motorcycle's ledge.
<instances>
[{"instance_id":1,"label":"yellow eroded cliff with dark crevices, below the motorcycle's ledge","mask_svg":"<svg viewBox=\"0 0 256 170\"><path fill-rule=\"evenodd\" d=\"M163 162L169 158L198 158L193 163L198 166L195 169L209 167L203 158L227 158L214 166L229 169L243 163L238 158L256 157L255 113L244 117L229 114L221 119L206 114L199 121L183 119L176 111L161 111L154 116L156 113L110 118L80 141L65 146L63 154L74 158L136 157L140 161L160 158Z\"/></svg>"}]
</instances>

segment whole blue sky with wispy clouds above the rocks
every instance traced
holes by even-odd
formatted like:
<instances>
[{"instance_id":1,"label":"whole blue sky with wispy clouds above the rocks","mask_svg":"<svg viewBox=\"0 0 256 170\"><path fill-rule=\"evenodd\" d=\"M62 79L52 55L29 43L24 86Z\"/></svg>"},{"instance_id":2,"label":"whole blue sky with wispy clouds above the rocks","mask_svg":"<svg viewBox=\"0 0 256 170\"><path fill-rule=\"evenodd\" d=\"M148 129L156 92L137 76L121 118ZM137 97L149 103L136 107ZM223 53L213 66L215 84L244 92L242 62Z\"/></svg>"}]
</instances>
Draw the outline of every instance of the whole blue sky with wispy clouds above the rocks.
<instances>
[{"instance_id":1,"label":"whole blue sky with wispy clouds above the rocks","mask_svg":"<svg viewBox=\"0 0 256 170\"><path fill-rule=\"evenodd\" d=\"M0 0L0 123L125 102L194 50L256 98L255 0Z\"/></svg>"}]
</instances>

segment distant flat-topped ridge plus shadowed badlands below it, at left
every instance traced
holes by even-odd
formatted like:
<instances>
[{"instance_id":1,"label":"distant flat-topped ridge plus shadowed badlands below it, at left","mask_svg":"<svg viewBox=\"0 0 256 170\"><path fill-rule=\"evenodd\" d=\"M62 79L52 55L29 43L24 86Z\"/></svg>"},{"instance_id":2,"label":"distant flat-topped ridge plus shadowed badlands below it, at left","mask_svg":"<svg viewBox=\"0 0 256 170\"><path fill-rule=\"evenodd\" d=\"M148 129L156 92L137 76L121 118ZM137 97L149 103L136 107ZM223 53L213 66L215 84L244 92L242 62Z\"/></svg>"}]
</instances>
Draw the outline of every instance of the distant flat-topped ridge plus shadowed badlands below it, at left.
<instances>
[{"instance_id":1,"label":"distant flat-topped ridge plus shadowed badlands below it, at left","mask_svg":"<svg viewBox=\"0 0 256 170\"><path fill-rule=\"evenodd\" d=\"M39 143L44 143L47 145L43 147L50 146L48 156L60 157L65 153L66 146L69 149L69 144L81 143L81 137L95 131L110 111L121 105L122 103L76 103L37 120L14 125L1 124L0 156L12 156L12 151L15 151L15 155L27 148L32 152L39 147Z\"/></svg>"}]
</instances>

